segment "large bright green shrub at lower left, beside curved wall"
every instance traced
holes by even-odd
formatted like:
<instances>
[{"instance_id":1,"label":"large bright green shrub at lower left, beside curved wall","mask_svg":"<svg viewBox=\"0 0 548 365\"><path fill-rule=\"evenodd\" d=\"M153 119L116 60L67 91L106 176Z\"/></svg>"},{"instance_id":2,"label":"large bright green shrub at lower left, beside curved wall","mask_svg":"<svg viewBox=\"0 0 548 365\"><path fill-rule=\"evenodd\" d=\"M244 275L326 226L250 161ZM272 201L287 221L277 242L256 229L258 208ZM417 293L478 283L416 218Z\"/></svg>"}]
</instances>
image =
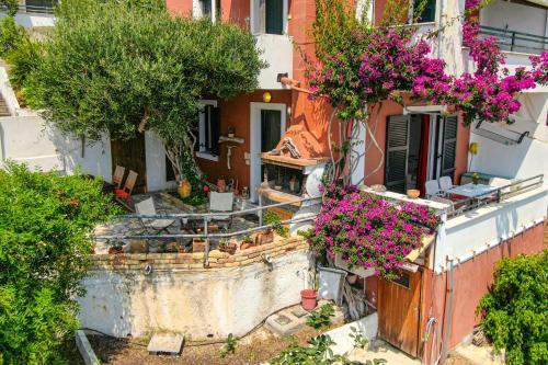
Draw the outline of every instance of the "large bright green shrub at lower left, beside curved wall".
<instances>
[{"instance_id":1,"label":"large bright green shrub at lower left, beside curved wall","mask_svg":"<svg viewBox=\"0 0 548 365\"><path fill-rule=\"evenodd\" d=\"M0 170L0 360L65 363L78 329L91 229L117 208L102 183L80 175ZM73 341L73 340L71 340ZM1 361L0 361L1 362Z\"/></svg>"}]
</instances>

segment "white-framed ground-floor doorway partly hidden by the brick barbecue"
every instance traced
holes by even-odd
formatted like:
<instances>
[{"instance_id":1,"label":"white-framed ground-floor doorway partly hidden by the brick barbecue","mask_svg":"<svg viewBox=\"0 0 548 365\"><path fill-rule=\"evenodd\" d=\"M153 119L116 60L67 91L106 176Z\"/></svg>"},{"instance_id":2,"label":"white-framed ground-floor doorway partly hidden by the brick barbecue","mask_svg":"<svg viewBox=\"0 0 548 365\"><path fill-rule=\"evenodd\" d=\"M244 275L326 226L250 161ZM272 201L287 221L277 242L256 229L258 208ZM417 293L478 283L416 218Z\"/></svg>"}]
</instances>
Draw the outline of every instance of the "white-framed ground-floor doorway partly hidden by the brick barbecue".
<instances>
[{"instance_id":1,"label":"white-framed ground-floor doorway partly hidden by the brick barbecue","mask_svg":"<svg viewBox=\"0 0 548 365\"><path fill-rule=\"evenodd\" d=\"M250 193L251 201L256 202L256 189L261 185L264 167L261 153L276 147L285 133L286 105L276 103L250 104Z\"/></svg>"}]
</instances>

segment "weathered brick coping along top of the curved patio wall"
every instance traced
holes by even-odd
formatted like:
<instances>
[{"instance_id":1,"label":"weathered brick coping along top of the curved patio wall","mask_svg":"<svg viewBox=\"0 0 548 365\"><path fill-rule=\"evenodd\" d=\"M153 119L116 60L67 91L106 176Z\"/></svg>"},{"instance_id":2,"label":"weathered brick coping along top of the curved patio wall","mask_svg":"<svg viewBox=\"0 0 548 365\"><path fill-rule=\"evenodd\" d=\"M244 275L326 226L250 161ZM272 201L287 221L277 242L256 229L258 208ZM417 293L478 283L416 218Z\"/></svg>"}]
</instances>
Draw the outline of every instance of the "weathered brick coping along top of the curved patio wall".
<instances>
[{"instance_id":1,"label":"weathered brick coping along top of the curved patio wall","mask_svg":"<svg viewBox=\"0 0 548 365\"><path fill-rule=\"evenodd\" d=\"M209 269L233 269L262 260L263 255L279 256L308 250L304 238L288 238L272 243L261 244L230 255L213 250L209 252ZM142 271L147 264L161 270L197 270L203 267L203 252L195 253L119 253L95 254L92 256L90 272L102 271Z\"/></svg>"}]
</instances>

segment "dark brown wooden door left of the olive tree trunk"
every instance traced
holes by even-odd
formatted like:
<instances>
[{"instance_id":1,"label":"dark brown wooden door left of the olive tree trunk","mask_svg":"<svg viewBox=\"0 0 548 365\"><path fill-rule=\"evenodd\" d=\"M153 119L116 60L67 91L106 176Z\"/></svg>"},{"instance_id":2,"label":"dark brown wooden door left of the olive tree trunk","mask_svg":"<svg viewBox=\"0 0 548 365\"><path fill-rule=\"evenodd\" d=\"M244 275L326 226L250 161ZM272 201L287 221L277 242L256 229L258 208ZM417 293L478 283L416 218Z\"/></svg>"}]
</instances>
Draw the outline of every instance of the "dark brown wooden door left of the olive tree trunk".
<instances>
[{"instance_id":1,"label":"dark brown wooden door left of the olive tree trunk","mask_svg":"<svg viewBox=\"0 0 548 365\"><path fill-rule=\"evenodd\" d=\"M116 164L126 168L124 183L129 170L137 172L134 193L147 192L147 161L145 155L145 134L136 134L135 138L117 140L111 138L112 169Z\"/></svg>"}]
</instances>

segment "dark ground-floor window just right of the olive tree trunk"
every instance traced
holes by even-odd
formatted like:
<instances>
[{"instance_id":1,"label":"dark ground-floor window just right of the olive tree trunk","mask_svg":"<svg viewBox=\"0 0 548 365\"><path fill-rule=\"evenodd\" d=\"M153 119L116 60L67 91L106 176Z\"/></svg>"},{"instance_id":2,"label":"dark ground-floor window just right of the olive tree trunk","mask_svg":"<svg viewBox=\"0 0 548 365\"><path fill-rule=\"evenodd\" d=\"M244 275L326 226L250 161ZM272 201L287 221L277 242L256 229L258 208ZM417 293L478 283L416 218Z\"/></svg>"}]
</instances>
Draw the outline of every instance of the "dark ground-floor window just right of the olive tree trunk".
<instances>
[{"instance_id":1,"label":"dark ground-floor window just right of the olive tree trunk","mask_svg":"<svg viewBox=\"0 0 548 365\"><path fill-rule=\"evenodd\" d=\"M197 128L196 156L217 160L219 156L220 115L216 101L203 101Z\"/></svg>"}]
</instances>

